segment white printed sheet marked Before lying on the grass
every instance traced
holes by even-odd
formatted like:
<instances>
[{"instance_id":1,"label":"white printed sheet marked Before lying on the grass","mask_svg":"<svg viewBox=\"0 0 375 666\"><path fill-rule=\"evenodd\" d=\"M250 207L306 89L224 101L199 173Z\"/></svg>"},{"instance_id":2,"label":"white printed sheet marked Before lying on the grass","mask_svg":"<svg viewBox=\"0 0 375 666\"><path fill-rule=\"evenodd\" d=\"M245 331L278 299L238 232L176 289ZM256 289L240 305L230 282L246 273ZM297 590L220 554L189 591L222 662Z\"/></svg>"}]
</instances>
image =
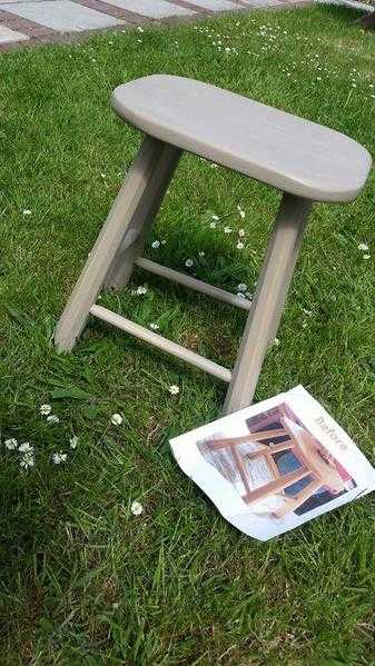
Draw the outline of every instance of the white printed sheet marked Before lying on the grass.
<instances>
[{"instance_id":1,"label":"white printed sheet marked Before lying on the grass","mask_svg":"<svg viewBox=\"0 0 375 666\"><path fill-rule=\"evenodd\" d=\"M243 533L267 540L375 488L375 470L302 386L170 440Z\"/></svg>"}]
</instances>

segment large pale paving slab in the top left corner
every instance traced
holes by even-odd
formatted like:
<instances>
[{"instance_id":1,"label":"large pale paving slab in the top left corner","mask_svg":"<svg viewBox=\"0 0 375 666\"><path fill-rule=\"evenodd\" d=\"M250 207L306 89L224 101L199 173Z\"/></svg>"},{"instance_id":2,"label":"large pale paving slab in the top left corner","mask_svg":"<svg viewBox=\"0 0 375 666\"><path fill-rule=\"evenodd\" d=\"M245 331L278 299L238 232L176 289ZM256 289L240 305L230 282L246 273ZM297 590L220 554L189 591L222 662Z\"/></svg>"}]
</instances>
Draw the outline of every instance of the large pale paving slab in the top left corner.
<instances>
[{"instance_id":1,"label":"large pale paving slab in the top left corner","mask_svg":"<svg viewBox=\"0 0 375 666\"><path fill-rule=\"evenodd\" d=\"M120 19L70 2L70 0L33 0L32 2L23 0L17 3L3 3L1 9L57 32L95 30L126 24Z\"/></svg>"}]
</instances>

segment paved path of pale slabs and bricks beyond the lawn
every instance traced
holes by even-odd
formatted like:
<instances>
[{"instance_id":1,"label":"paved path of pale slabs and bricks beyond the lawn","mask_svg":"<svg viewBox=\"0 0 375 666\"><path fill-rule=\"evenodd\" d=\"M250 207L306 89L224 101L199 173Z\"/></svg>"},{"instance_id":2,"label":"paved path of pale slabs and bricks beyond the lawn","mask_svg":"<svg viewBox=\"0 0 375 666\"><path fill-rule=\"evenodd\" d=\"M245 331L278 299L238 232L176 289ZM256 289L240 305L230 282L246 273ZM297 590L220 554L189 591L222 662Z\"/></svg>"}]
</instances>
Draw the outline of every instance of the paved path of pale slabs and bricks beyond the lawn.
<instances>
[{"instance_id":1,"label":"paved path of pale slabs and bricks beyond the lawn","mask_svg":"<svg viewBox=\"0 0 375 666\"><path fill-rule=\"evenodd\" d=\"M0 50L65 41L91 30L305 2L309 0L0 0Z\"/></svg>"}]
</instances>

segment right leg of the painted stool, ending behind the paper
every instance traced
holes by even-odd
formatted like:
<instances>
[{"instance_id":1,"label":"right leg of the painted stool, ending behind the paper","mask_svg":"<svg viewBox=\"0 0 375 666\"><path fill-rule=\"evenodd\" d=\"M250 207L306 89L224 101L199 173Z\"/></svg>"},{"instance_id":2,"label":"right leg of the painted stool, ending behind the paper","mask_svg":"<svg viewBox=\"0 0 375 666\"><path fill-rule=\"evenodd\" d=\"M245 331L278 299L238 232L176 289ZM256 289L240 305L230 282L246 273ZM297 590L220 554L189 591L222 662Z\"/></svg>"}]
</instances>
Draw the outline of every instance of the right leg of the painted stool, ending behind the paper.
<instances>
[{"instance_id":1,"label":"right leg of the painted stool, ending behind the paper","mask_svg":"<svg viewBox=\"0 0 375 666\"><path fill-rule=\"evenodd\" d=\"M249 311L224 414L250 405L292 281L312 201L284 193Z\"/></svg>"}]
</instances>

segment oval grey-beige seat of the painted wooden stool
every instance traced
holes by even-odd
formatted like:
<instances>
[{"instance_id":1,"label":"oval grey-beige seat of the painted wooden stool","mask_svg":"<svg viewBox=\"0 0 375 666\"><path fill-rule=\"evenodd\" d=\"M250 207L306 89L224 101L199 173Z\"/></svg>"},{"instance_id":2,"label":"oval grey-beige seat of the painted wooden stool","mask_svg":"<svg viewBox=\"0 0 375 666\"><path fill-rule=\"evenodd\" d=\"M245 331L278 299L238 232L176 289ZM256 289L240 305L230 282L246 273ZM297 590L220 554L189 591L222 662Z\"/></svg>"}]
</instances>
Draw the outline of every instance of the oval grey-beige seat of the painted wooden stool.
<instances>
[{"instance_id":1,"label":"oval grey-beige seat of the painted wooden stool","mask_svg":"<svg viewBox=\"0 0 375 666\"><path fill-rule=\"evenodd\" d=\"M315 201L351 201L372 163L345 135L191 79L136 79L111 106L157 139Z\"/></svg>"}]
</instances>

